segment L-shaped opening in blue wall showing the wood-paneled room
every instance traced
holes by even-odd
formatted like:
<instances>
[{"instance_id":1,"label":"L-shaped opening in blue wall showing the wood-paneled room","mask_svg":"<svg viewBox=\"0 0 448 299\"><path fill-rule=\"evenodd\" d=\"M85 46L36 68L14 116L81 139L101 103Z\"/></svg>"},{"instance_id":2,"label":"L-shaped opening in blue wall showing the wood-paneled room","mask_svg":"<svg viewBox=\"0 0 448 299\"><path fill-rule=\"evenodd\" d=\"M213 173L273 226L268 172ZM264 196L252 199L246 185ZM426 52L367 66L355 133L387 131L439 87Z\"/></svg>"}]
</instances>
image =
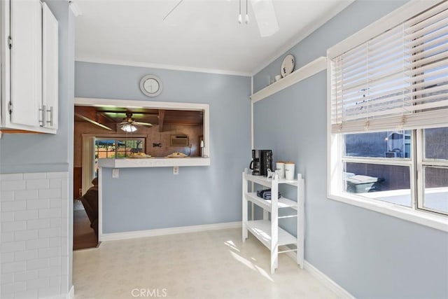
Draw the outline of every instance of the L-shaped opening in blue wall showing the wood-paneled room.
<instances>
[{"instance_id":1,"label":"L-shaped opening in blue wall showing the wood-paneled room","mask_svg":"<svg viewBox=\"0 0 448 299\"><path fill-rule=\"evenodd\" d=\"M166 157L174 152L190 157L209 155L208 104L75 98L74 112L73 199L92 187L98 159L132 158L136 154ZM173 143L173 137L186 142ZM95 215L97 243L102 240L101 181ZM73 249L80 249L76 237L82 230L78 230L77 214L83 214L84 228L86 218L90 232L94 233L95 226L82 202L75 201L73 207ZM77 207L84 207L84 211L77 211ZM93 243L90 247L97 246Z\"/></svg>"}]
</instances>

